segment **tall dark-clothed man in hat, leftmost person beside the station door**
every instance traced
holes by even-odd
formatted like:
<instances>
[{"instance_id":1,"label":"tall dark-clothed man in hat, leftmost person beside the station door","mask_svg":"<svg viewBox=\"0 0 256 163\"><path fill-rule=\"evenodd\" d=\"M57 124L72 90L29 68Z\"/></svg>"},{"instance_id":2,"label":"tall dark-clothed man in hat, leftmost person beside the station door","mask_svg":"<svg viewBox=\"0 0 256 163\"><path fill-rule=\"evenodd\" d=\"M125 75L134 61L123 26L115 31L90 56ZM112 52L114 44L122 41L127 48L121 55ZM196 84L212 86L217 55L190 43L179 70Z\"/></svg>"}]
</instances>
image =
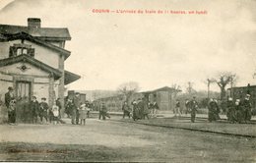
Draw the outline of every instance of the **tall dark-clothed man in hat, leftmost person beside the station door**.
<instances>
[{"instance_id":1,"label":"tall dark-clothed man in hat, leftmost person beside the station door","mask_svg":"<svg viewBox=\"0 0 256 163\"><path fill-rule=\"evenodd\" d=\"M8 122L9 123L15 123L15 110L13 110L13 106L15 104L15 98L14 98L14 91L13 87L9 86L8 87L8 92L5 93L5 105L8 109ZM11 105L12 101L12 105ZM11 108L12 107L12 108Z\"/></svg>"}]
</instances>

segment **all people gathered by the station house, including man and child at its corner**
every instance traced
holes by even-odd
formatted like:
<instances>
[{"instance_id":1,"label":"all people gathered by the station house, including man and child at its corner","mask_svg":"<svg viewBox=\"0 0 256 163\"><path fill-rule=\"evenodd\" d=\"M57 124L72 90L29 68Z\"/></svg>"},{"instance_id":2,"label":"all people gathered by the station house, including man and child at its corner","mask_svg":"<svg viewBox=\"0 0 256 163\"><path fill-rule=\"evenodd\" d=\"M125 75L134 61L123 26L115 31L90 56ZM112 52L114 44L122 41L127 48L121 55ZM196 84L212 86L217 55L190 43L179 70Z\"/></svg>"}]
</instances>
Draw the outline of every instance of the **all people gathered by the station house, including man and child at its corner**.
<instances>
[{"instance_id":1,"label":"all people gathered by the station house, including man and child at its corner","mask_svg":"<svg viewBox=\"0 0 256 163\"><path fill-rule=\"evenodd\" d=\"M90 104L88 101L82 102L76 93L74 98L68 99L65 104L65 113L71 118L73 125L86 124L86 117L89 117ZM21 102L22 101L22 102ZM5 93L5 105L8 110L8 123L15 125L17 123L17 111L19 111L20 121L28 124L59 124L61 121L62 109L60 99L53 101L53 105L49 107L46 98L42 97L40 102L36 96L24 97L23 100L16 101L13 87L8 87ZM17 109L19 107L19 109ZM80 120L80 122L79 122Z\"/></svg>"}]
</instances>

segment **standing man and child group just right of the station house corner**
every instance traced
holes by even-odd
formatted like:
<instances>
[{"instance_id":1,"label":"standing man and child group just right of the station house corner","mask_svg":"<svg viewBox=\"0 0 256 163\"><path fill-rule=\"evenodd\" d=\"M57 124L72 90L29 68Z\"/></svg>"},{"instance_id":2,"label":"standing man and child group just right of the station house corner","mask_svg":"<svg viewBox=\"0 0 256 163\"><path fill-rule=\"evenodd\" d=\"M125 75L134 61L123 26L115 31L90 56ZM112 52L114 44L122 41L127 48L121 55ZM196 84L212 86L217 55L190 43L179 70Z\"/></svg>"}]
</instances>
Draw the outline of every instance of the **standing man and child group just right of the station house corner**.
<instances>
[{"instance_id":1,"label":"standing man and child group just right of the station house corner","mask_svg":"<svg viewBox=\"0 0 256 163\"><path fill-rule=\"evenodd\" d=\"M71 118L72 125L86 125L86 118L89 117L90 110L89 102L82 102L79 92L76 92L73 99L68 98L66 101L65 113L68 118Z\"/></svg>"}]
</instances>

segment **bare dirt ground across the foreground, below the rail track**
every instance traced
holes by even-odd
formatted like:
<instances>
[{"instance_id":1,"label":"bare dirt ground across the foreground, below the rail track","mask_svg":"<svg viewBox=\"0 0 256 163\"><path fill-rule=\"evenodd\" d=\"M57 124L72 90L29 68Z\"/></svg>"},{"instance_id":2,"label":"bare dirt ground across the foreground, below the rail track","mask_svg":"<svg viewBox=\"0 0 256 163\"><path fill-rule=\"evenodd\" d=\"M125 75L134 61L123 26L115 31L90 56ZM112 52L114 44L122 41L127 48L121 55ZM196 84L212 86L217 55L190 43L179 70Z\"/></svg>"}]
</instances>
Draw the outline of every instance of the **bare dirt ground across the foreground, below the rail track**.
<instances>
[{"instance_id":1,"label":"bare dirt ground across the foreground, below the rail track","mask_svg":"<svg viewBox=\"0 0 256 163\"><path fill-rule=\"evenodd\" d=\"M113 121L0 125L2 161L256 162L256 140Z\"/></svg>"}]
</instances>

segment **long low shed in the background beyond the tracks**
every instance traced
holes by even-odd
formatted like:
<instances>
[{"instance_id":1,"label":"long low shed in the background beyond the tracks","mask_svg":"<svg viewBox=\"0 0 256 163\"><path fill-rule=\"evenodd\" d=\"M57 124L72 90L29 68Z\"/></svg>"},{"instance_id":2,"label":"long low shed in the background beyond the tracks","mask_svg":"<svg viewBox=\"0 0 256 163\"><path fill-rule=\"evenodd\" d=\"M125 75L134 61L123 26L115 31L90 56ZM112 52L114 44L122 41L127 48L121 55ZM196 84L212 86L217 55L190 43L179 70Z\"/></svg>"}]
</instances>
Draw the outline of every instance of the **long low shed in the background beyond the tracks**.
<instances>
[{"instance_id":1,"label":"long low shed in the background beyond the tracks","mask_svg":"<svg viewBox=\"0 0 256 163\"><path fill-rule=\"evenodd\" d=\"M175 94L181 90L176 90L174 88L164 86L155 90L137 92L132 95L129 99L128 104L131 105L133 100L138 98L146 97L150 102L157 101L160 106L160 110L171 110L174 106ZM100 103L104 102L110 111L121 111L122 104L125 100L124 95L115 95L110 97L99 98L94 101L96 110L98 109Z\"/></svg>"}]
</instances>

